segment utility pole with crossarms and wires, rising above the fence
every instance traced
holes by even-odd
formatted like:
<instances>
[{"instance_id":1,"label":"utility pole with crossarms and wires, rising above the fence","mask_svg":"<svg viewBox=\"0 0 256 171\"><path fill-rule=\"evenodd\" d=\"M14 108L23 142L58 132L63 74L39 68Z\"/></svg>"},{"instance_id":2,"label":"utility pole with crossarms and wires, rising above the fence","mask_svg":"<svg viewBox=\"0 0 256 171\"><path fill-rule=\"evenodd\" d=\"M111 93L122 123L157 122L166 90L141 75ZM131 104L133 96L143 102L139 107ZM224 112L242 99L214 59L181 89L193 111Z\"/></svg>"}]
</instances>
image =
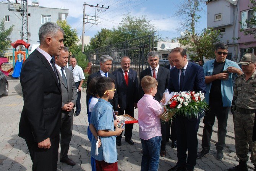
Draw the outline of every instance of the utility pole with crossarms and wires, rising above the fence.
<instances>
[{"instance_id":1,"label":"utility pole with crossarms and wires, rising above the fence","mask_svg":"<svg viewBox=\"0 0 256 171\"><path fill-rule=\"evenodd\" d=\"M90 6L90 7L95 7L95 16L91 16L91 15L86 15L86 14L85 14L85 6L86 6L86 5L88 5L88 6ZM84 52L84 24L86 24L86 23L96 24L96 25L98 24L98 23L96 23L96 21L97 21L97 19L96 19L96 18L97 18L97 17L96 17L97 8L98 8L98 10L99 10L99 9L100 9L100 10L102 10L102 9L109 9L109 6L107 6L107 8L106 8L106 7L104 7L104 5L99 6L98 3L97 3L97 5L89 5L89 4L85 3L85 2L84 2L84 4L83 4L82 52ZM85 18L85 16L87 16L87 18ZM89 16L89 17L92 17L92 18L94 18L94 19L89 19L88 16ZM85 19L87 19L86 22L85 22ZM92 21L94 21L94 23L88 22L88 20L92 20Z\"/></svg>"}]
</instances>

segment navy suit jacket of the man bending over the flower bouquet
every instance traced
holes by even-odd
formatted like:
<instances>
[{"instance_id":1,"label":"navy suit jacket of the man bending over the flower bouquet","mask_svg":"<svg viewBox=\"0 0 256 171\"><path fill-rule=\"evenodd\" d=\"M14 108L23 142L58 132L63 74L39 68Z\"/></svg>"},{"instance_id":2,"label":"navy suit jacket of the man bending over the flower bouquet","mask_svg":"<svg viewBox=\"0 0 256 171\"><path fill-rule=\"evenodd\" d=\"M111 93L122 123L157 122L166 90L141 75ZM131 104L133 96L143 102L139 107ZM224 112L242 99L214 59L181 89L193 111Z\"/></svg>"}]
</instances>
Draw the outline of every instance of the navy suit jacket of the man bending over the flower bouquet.
<instances>
[{"instance_id":1,"label":"navy suit jacket of the man bending over the flower bouquet","mask_svg":"<svg viewBox=\"0 0 256 171\"><path fill-rule=\"evenodd\" d=\"M180 92L180 86L178 84L178 72L179 69L176 67L173 67L170 70L170 81L168 84L169 92ZM183 91L206 92L204 70L200 65L188 61L188 66L186 68L183 81ZM203 115L200 115L200 118L201 117L203 117Z\"/></svg>"}]
</instances>

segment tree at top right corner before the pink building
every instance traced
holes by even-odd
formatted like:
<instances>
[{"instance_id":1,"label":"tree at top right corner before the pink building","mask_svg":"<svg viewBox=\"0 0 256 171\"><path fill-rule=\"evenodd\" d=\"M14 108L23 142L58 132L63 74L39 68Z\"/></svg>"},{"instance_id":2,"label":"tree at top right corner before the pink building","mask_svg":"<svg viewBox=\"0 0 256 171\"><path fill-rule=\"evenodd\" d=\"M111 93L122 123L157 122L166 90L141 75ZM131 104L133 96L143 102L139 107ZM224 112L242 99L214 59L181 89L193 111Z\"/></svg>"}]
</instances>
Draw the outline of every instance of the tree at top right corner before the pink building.
<instances>
[{"instance_id":1,"label":"tree at top right corner before the pink building","mask_svg":"<svg viewBox=\"0 0 256 171\"><path fill-rule=\"evenodd\" d=\"M249 9L253 10L253 14L256 13L256 1L255 0L250 0L250 3L248 5ZM240 31L244 33L244 35L253 35L254 39L256 39L256 15L252 15L251 18L249 20L246 19L245 23L239 22L242 26L246 25L247 27L250 27L250 29L243 29L241 28ZM240 38L235 38L235 39L240 39Z\"/></svg>"}]
</instances>

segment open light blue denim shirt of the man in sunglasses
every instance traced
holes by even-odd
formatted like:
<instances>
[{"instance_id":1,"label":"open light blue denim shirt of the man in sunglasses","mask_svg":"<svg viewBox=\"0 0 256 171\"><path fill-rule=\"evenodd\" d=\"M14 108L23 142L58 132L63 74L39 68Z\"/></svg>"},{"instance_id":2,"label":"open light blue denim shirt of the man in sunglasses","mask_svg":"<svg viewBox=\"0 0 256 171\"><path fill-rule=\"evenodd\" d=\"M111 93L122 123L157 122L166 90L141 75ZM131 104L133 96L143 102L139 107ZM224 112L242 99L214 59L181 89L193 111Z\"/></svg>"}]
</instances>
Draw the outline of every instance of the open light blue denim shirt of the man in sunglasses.
<instances>
[{"instance_id":1,"label":"open light blue denim shirt of the man in sunglasses","mask_svg":"<svg viewBox=\"0 0 256 171\"><path fill-rule=\"evenodd\" d=\"M209 60L204 63L204 76L212 76L213 68L214 68L214 60ZM237 63L234 61L225 60L224 69L226 70L228 67L233 66L235 68L239 68L242 70ZM227 80L221 80L220 87L221 87L221 94L222 94L222 103L223 106L231 106L232 99L233 99L233 80L237 77L237 74L229 73L229 77ZM212 82L206 84L206 93L205 93L205 100L209 104L209 95L211 90Z\"/></svg>"}]
</instances>

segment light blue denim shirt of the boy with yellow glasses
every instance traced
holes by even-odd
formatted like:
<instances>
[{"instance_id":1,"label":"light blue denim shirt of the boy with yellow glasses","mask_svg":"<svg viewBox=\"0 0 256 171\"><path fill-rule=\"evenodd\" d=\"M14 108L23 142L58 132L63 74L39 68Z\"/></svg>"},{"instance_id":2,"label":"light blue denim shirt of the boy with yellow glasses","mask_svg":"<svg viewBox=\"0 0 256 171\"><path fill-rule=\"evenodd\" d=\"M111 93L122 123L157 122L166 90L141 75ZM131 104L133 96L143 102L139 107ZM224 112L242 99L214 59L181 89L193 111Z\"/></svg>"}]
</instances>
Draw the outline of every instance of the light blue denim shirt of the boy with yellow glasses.
<instances>
[{"instance_id":1,"label":"light blue denim shirt of the boy with yellow glasses","mask_svg":"<svg viewBox=\"0 0 256 171\"><path fill-rule=\"evenodd\" d=\"M99 99L92 110L91 124L99 130L114 131L113 106L103 99ZM100 137L101 146L98 148L99 155L95 155L96 139L92 136L91 155L96 160L104 160L107 163L115 163L117 161L117 147L115 144L115 136Z\"/></svg>"}]
</instances>

